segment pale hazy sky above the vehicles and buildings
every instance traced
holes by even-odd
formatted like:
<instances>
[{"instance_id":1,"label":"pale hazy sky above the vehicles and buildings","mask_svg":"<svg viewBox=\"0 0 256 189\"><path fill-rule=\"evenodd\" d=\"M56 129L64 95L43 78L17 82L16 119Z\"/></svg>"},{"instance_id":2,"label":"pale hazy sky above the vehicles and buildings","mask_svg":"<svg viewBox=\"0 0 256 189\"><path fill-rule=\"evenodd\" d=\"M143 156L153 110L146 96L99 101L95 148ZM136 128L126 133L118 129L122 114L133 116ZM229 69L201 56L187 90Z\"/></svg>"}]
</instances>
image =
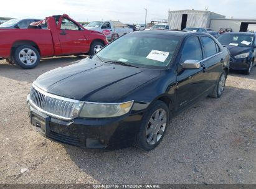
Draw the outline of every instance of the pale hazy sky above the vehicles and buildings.
<instances>
[{"instance_id":1,"label":"pale hazy sky above the vehicles and buildings","mask_svg":"<svg viewBox=\"0 0 256 189\"><path fill-rule=\"evenodd\" d=\"M195 9L209 11L228 18L256 19L256 0L8 0L0 2L0 17L35 18L68 14L75 21L121 21L145 23L152 19L168 19L168 10Z\"/></svg>"}]
</instances>

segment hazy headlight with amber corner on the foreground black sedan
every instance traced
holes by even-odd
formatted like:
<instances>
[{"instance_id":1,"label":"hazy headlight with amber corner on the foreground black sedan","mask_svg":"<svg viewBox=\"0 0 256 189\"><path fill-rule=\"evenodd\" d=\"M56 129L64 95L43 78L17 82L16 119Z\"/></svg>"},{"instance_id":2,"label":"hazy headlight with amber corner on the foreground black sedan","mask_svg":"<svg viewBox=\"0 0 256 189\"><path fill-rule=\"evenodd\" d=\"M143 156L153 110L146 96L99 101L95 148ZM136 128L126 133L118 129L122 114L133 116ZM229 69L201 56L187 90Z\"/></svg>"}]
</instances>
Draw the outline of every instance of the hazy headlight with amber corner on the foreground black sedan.
<instances>
[{"instance_id":1,"label":"hazy headlight with amber corner on the foreground black sedan","mask_svg":"<svg viewBox=\"0 0 256 189\"><path fill-rule=\"evenodd\" d=\"M80 113L82 118L113 118L128 113L133 101L126 103L88 103L85 102Z\"/></svg>"}]
</instances>

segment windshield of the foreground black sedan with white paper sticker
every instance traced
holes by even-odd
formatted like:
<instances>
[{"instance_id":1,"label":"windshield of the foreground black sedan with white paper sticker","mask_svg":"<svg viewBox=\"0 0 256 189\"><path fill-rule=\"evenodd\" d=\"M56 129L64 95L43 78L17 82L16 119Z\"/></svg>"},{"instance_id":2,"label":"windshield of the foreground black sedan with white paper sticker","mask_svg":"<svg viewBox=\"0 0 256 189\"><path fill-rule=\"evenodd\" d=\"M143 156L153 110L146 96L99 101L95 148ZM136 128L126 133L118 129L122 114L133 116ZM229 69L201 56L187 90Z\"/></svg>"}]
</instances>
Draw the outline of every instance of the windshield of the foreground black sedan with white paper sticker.
<instances>
[{"instance_id":1,"label":"windshield of the foreground black sedan with white paper sticker","mask_svg":"<svg viewBox=\"0 0 256 189\"><path fill-rule=\"evenodd\" d=\"M166 67L179 40L170 35L126 34L100 50L93 60L143 68Z\"/></svg>"}]
</instances>

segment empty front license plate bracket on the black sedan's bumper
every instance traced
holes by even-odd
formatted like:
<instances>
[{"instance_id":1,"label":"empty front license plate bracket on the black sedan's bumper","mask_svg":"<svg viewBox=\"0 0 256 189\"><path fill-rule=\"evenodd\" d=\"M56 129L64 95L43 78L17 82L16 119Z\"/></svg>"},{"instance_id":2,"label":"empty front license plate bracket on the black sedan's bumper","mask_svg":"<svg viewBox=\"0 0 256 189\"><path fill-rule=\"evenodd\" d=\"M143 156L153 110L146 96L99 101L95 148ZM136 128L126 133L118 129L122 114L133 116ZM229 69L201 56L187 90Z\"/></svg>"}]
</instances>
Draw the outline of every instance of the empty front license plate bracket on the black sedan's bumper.
<instances>
[{"instance_id":1,"label":"empty front license plate bracket on the black sedan's bumper","mask_svg":"<svg viewBox=\"0 0 256 189\"><path fill-rule=\"evenodd\" d=\"M50 131L49 128L50 117L46 116L39 111L31 111L31 124L42 134L47 134Z\"/></svg>"}]
</instances>

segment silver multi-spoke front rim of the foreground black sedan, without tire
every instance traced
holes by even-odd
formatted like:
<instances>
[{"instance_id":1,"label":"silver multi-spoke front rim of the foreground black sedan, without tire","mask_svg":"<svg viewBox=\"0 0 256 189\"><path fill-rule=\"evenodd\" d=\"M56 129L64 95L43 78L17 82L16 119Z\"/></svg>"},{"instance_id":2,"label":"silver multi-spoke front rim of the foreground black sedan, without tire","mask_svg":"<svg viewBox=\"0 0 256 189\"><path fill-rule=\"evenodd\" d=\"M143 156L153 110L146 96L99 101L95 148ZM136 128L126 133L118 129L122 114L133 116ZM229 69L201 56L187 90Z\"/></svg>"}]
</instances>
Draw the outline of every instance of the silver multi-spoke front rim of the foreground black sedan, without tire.
<instances>
[{"instance_id":1,"label":"silver multi-spoke front rim of the foreground black sedan, without tire","mask_svg":"<svg viewBox=\"0 0 256 189\"><path fill-rule=\"evenodd\" d=\"M157 109L149 119L146 129L146 142L150 145L156 144L164 134L167 124L167 115L164 109Z\"/></svg>"}]
</instances>

